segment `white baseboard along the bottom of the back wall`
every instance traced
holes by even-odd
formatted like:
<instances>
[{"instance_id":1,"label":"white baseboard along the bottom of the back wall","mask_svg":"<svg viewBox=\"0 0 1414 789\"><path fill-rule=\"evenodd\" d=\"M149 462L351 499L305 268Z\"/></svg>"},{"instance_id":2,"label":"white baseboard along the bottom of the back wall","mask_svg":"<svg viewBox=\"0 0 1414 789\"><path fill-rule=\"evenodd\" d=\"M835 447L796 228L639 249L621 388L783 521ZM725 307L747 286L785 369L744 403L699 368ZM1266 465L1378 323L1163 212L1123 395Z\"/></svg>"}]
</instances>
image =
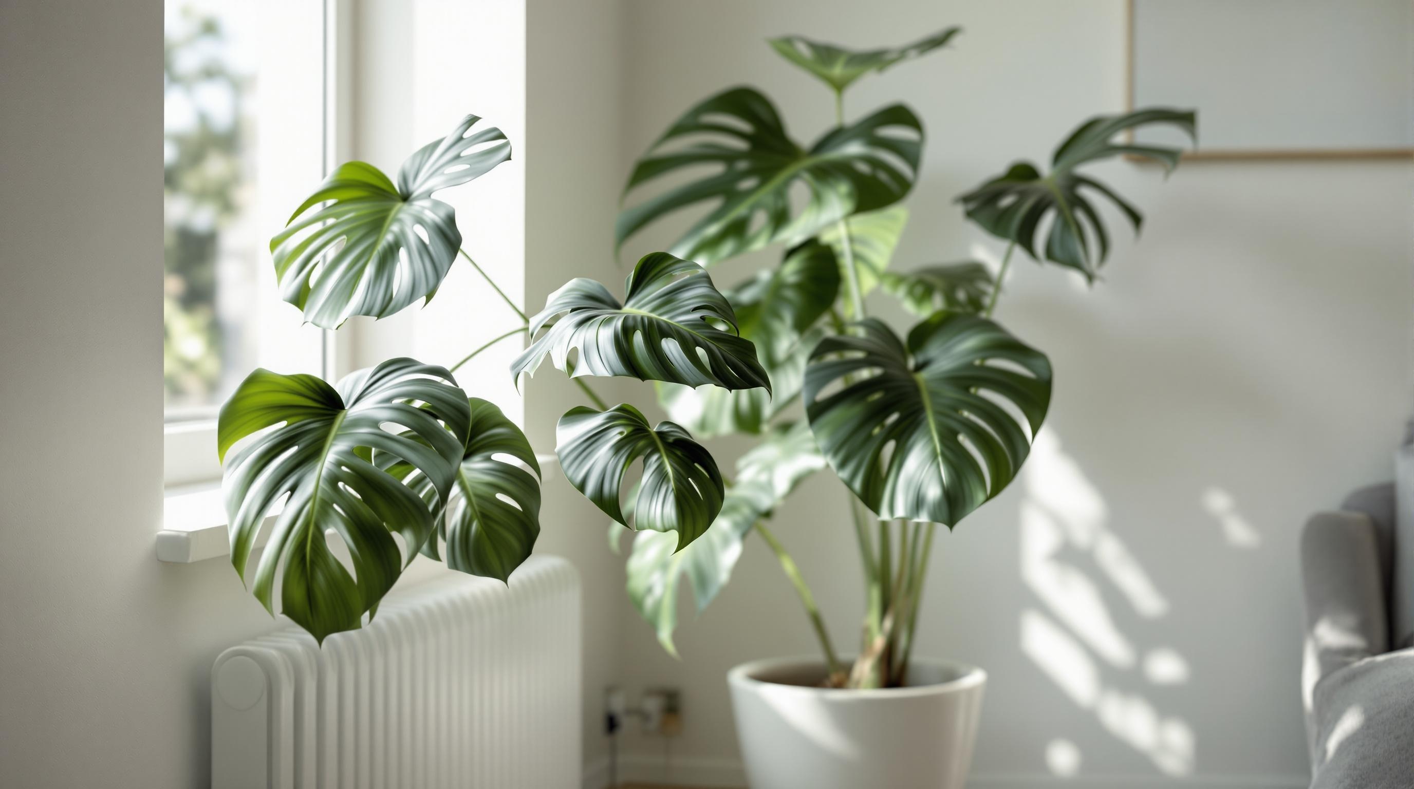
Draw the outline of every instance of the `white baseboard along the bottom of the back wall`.
<instances>
[{"instance_id":1,"label":"white baseboard along the bottom of the back wall","mask_svg":"<svg viewBox=\"0 0 1414 789\"><path fill-rule=\"evenodd\" d=\"M662 783L665 786L718 786L742 789L747 773L735 759L673 758L665 765L662 756L626 754L619 756L618 781ZM609 782L608 758L584 768L584 789L605 789ZM1157 775L973 775L969 789L1307 789L1311 779L1304 775L1195 775L1167 778Z\"/></svg>"}]
</instances>

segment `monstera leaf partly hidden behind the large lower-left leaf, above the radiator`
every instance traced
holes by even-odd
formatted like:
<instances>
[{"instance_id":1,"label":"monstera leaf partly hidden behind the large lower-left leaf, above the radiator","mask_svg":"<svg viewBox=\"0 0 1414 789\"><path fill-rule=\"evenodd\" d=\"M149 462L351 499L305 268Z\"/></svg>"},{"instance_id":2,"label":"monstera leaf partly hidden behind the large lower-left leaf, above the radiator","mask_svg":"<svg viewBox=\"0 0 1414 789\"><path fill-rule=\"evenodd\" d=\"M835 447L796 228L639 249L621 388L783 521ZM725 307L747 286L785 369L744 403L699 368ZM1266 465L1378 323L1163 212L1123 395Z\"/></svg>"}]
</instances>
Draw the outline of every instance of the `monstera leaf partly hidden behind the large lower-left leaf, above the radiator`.
<instances>
[{"instance_id":1,"label":"monstera leaf partly hidden behind the large lower-left leaf, above the radiator","mask_svg":"<svg viewBox=\"0 0 1414 789\"><path fill-rule=\"evenodd\" d=\"M423 554L441 559L437 551L441 537L447 543L447 567L506 581L530 557L540 536L540 464L525 433L495 403L481 397L468 403L471 431L457 467L457 485L437 536L423 543ZM390 471L395 477L406 474L407 485L426 502L437 501L427 475L404 464Z\"/></svg>"}]
</instances>

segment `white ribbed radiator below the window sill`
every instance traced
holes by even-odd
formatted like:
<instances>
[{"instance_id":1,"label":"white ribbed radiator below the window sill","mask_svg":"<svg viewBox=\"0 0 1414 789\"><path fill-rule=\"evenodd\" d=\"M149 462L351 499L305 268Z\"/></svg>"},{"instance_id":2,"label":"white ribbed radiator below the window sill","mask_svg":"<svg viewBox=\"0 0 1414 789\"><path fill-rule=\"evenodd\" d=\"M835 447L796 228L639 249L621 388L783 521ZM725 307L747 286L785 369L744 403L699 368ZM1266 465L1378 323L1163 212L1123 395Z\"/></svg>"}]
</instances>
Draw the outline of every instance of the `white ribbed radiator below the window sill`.
<instances>
[{"instance_id":1,"label":"white ribbed radiator below the window sill","mask_svg":"<svg viewBox=\"0 0 1414 789\"><path fill-rule=\"evenodd\" d=\"M230 648L211 674L214 789L578 786L580 581L532 557L383 598L373 622Z\"/></svg>"}]
</instances>

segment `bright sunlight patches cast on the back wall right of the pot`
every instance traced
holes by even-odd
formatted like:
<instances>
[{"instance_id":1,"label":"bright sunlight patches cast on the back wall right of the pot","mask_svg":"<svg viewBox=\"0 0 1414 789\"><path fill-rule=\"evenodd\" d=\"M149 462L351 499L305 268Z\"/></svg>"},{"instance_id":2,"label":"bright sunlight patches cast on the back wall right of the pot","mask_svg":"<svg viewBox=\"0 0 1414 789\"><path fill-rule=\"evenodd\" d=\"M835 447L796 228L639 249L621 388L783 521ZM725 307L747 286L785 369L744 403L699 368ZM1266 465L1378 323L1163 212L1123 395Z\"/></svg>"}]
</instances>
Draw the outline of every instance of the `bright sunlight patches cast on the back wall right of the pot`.
<instances>
[{"instance_id":1,"label":"bright sunlight patches cast on the back wall right of the pot","mask_svg":"<svg viewBox=\"0 0 1414 789\"><path fill-rule=\"evenodd\" d=\"M1260 544L1226 491L1206 491L1202 503L1223 526L1229 544ZM1186 684L1188 660L1172 646L1127 636L1102 584L1117 590L1144 619L1161 619L1169 602L1107 523L1100 491L1062 451L1055 433L1042 430L1027 461L1021 502L1021 578L1036 601L1021 612L1021 649L1110 735L1165 775L1191 775L1196 759L1192 727L1143 693L1145 687ZM1085 559L1097 577L1082 568ZM1056 738L1046 745L1045 762L1052 773L1070 776L1080 772L1083 754L1075 742Z\"/></svg>"}]
</instances>

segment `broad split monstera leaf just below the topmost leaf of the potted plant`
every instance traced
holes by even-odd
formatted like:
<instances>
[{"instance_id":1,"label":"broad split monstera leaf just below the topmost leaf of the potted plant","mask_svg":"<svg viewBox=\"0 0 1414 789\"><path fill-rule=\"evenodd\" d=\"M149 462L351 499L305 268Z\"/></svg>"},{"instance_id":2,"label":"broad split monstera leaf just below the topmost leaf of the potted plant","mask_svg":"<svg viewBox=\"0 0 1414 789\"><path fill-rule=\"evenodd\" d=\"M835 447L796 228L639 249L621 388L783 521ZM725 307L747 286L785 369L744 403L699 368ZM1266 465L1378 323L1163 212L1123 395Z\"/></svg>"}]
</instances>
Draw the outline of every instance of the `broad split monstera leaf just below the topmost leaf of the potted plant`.
<instances>
[{"instance_id":1,"label":"broad split monstera leaf just below the topmost leaf of the potted plant","mask_svg":"<svg viewBox=\"0 0 1414 789\"><path fill-rule=\"evenodd\" d=\"M673 255L711 264L773 242L800 243L837 219L906 195L922 139L913 112L892 105L803 150L786 136L771 99L732 88L687 110L639 160L625 197L663 177L676 185L619 212L618 246L703 202L713 208L669 249ZM694 175L683 182L687 171ZM805 194L799 206L790 199L796 189Z\"/></svg>"}]
</instances>

